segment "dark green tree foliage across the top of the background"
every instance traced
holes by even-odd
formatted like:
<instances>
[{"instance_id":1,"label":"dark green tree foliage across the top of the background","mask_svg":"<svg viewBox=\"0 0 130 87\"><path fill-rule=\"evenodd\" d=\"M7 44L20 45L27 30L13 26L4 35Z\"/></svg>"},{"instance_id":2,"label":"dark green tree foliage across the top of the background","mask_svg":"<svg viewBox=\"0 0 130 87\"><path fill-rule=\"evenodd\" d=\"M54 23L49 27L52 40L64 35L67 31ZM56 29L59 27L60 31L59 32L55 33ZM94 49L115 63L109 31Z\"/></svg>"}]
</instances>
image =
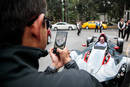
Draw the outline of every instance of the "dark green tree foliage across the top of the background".
<instances>
[{"instance_id":1,"label":"dark green tree foliage across the top of the background","mask_svg":"<svg viewBox=\"0 0 130 87\"><path fill-rule=\"evenodd\" d=\"M65 0L65 21L98 20L99 13L108 15L111 21L123 17L124 10L130 10L130 0ZM62 19L61 0L47 0L48 16L54 21Z\"/></svg>"}]
</instances>

